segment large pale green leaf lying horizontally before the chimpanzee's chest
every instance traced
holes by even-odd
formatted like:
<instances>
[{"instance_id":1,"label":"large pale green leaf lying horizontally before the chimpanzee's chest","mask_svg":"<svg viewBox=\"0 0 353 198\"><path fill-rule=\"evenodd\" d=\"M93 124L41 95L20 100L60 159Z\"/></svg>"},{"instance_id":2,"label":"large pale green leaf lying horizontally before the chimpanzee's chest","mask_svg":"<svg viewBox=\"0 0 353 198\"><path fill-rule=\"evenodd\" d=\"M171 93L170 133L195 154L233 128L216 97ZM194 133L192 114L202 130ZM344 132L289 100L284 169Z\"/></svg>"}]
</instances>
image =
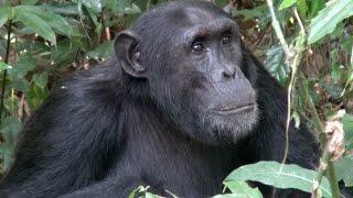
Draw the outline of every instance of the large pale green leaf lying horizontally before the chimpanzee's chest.
<instances>
[{"instance_id":1,"label":"large pale green leaf lying horizontally before the chimpanzee's chest","mask_svg":"<svg viewBox=\"0 0 353 198\"><path fill-rule=\"evenodd\" d=\"M298 165L280 164L278 162L258 162L242 166L231 173L228 180L254 180L276 188L295 188L311 193L318 172ZM323 196L332 197L329 180L322 179L320 185Z\"/></svg>"}]
</instances>

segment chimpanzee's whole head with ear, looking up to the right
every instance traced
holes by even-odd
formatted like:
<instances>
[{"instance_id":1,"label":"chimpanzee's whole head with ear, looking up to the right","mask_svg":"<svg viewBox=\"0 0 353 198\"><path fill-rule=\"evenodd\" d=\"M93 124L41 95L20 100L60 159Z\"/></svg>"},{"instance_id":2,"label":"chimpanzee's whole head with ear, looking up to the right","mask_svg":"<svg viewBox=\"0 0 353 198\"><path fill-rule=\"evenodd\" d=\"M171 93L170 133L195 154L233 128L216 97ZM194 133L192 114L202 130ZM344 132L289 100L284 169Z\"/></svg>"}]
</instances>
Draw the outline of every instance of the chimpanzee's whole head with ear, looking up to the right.
<instances>
[{"instance_id":1,"label":"chimpanzee's whole head with ear, looking up to the right","mask_svg":"<svg viewBox=\"0 0 353 198\"><path fill-rule=\"evenodd\" d=\"M256 66L235 21L214 6L152 9L118 34L115 50L122 70L143 79L149 97L191 138L234 142L257 122Z\"/></svg>"}]
</instances>

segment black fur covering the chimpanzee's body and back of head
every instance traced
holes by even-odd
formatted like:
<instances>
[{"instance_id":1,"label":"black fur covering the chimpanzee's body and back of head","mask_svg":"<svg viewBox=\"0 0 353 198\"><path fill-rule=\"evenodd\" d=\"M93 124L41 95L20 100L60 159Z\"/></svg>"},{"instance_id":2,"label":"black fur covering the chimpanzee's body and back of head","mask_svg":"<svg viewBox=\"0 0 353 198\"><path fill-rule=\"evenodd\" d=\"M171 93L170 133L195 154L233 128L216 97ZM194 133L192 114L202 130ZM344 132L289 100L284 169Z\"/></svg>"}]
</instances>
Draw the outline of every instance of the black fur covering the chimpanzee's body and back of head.
<instances>
[{"instance_id":1,"label":"black fur covering the chimpanzee's body and back of head","mask_svg":"<svg viewBox=\"0 0 353 198\"><path fill-rule=\"evenodd\" d=\"M228 141L218 134L223 131L215 130L213 138L213 132L196 133L192 119L197 114L181 113L191 111L182 108L183 102L199 106L199 100L176 100L178 90L203 86L203 76L190 72L178 79L180 84L170 85L175 89L168 87L173 79L167 78L172 68L167 65L180 62L171 56L178 50L168 37L175 34L173 25L185 23L178 19L188 9L229 19L205 2L168 3L146 13L130 30L139 35L140 62L159 81L131 77L113 57L53 89L19 138L15 161L0 185L3 196L127 197L139 185L149 185L164 196L169 190L205 197L221 193L222 180L240 165L281 161L286 92L245 47L240 67L257 94L257 124ZM293 125L289 134L287 163L314 168L319 151L313 135ZM269 188L260 189L271 195ZM289 194L297 191L276 196Z\"/></svg>"}]
</instances>

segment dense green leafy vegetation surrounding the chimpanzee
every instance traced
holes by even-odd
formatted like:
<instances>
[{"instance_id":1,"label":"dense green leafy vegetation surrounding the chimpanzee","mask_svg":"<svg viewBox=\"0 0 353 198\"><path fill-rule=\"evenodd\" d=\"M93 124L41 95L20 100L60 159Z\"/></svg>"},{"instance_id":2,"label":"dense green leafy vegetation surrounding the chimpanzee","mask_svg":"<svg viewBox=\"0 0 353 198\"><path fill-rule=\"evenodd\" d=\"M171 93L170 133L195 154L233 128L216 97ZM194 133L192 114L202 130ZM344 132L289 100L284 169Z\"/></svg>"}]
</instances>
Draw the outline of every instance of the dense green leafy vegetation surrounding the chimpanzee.
<instances>
[{"instance_id":1,"label":"dense green leafy vegetation surrounding the chimpanzee","mask_svg":"<svg viewBox=\"0 0 353 198\"><path fill-rule=\"evenodd\" d=\"M88 69L108 58L116 32L163 1L2 2L1 174L11 164L23 121L45 100L50 89L67 74ZM350 190L353 187L353 1L213 2L238 19L247 46L288 88L291 119L297 125L306 122L318 134L323 162L318 172L261 162L235 170L225 186L234 195L247 194L249 197L260 195L256 189L249 189L244 180L313 190L315 196L327 197L336 196L336 182ZM266 174L258 177L258 173ZM320 183L321 188L314 190ZM148 187L137 190L146 191Z\"/></svg>"}]
</instances>

